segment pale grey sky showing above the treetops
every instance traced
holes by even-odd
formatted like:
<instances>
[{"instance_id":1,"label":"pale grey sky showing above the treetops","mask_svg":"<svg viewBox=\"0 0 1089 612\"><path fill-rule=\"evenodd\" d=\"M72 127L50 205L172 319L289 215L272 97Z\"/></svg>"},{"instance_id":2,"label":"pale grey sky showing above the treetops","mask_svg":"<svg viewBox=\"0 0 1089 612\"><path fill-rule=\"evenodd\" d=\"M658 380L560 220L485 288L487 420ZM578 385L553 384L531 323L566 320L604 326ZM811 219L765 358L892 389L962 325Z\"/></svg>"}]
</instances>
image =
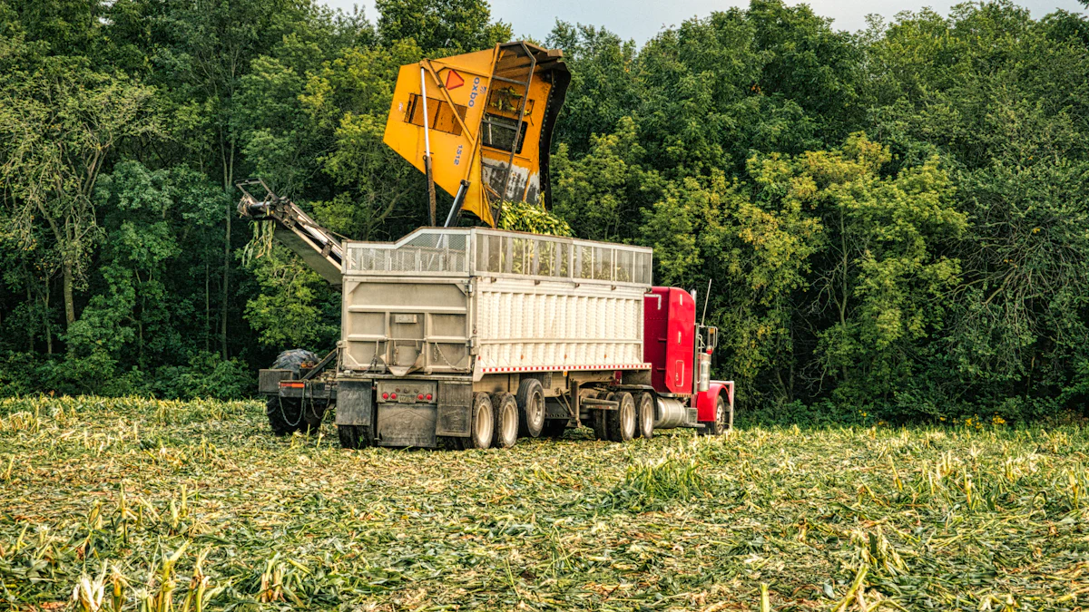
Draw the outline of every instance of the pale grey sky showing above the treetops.
<instances>
[{"instance_id":1,"label":"pale grey sky showing above the treetops","mask_svg":"<svg viewBox=\"0 0 1089 612\"><path fill-rule=\"evenodd\" d=\"M323 0L330 7L350 11L358 4L374 21L371 0ZM796 4L787 0L787 4ZM866 27L866 15L877 13L891 20L901 11L917 11L929 7L942 14L959 0L810 0L813 12L835 20L839 29L857 30ZM1077 0L1017 0L1028 8L1033 17L1063 9L1085 13ZM692 17L703 17L730 7L748 7L748 0L491 0L491 14L514 27L516 38L533 37L544 40L556 19L584 25L604 26L623 38L646 42L663 27L681 25Z\"/></svg>"}]
</instances>

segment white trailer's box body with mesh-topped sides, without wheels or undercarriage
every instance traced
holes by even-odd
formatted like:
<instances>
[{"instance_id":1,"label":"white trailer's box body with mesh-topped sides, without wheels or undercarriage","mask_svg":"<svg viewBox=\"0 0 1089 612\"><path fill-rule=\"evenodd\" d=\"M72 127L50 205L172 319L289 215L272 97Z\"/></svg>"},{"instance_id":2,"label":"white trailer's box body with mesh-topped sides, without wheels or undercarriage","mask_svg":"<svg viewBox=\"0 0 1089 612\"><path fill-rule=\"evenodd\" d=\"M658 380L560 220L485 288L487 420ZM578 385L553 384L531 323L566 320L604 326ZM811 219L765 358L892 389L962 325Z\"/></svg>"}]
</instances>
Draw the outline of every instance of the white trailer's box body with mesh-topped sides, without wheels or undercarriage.
<instances>
[{"instance_id":1,"label":"white trailer's box body with mesh-topped sides, without wheels or undercarriage","mask_svg":"<svg viewBox=\"0 0 1089 612\"><path fill-rule=\"evenodd\" d=\"M393 244L347 243L347 252L348 369L479 379L646 367L649 248L426 228Z\"/></svg>"}]
</instances>

